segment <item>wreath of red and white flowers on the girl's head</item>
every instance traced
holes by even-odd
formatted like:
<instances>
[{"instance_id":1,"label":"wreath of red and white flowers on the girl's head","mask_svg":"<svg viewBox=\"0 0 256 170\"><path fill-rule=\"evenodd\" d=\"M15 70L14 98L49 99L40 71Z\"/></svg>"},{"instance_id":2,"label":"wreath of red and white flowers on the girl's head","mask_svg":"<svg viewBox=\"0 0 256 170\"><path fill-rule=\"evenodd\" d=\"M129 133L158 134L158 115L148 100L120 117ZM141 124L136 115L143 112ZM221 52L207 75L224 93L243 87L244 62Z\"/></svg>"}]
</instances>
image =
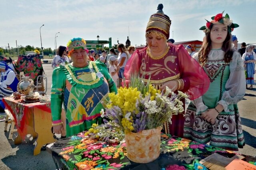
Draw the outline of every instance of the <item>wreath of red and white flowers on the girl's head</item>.
<instances>
[{"instance_id":1,"label":"wreath of red and white flowers on the girl's head","mask_svg":"<svg viewBox=\"0 0 256 170\"><path fill-rule=\"evenodd\" d=\"M212 24L224 24L225 26L228 26L228 32L231 33L234 28L237 28L239 25L238 24L234 24L233 20L231 20L229 18L229 15L226 14L225 16L223 16L223 13L217 14L216 16L213 16L211 19L212 21L208 21L206 20L206 26L202 26L201 28L199 28L199 30L203 30L204 32L206 32L207 29L210 29L210 26Z\"/></svg>"}]
</instances>

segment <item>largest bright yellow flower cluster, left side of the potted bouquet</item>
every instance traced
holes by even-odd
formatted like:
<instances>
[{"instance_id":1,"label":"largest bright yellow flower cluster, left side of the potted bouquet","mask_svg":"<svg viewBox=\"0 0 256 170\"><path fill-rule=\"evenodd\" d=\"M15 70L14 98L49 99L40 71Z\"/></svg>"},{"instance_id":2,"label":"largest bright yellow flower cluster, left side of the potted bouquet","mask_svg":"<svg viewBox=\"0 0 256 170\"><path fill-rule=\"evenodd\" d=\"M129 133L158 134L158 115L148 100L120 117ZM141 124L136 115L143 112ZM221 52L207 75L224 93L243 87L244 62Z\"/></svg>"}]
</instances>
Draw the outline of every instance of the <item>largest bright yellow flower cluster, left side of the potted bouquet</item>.
<instances>
[{"instance_id":1,"label":"largest bright yellow flower cluster, left side of the potted bouquet","mask_svg":"<svg viewBox=\"0 0 256 170\"><path fill-rule=\"evenodd\" d=\"M118 106L123 111L125 115L127 112L138 112L136 109L136 100L140 97L140 92L137 88L122 88L118 89L118 93L110 93L110 104L107 105L107 108L112 108L113 106Z\"/></svg>"}]
</instances>

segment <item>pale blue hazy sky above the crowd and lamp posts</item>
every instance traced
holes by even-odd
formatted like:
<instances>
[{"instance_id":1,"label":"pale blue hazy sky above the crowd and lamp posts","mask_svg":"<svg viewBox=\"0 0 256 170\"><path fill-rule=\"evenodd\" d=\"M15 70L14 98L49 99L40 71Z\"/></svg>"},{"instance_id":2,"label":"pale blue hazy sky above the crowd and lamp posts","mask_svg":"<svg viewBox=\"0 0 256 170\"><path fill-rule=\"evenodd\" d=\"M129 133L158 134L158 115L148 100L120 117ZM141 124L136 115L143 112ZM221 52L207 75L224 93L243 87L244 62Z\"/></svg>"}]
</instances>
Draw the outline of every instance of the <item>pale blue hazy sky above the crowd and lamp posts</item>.
<instances>
[{"instance_id":1,"label":"pale blue hazy sky above the crowd and lamp posts","mask_svg":"<svg viewBox=\"0 0 256 170\"><path fill-rule=\"evenodd\" d=\"M54 49L66 45L68 40L81 37L85 40L108 40L112 44L125 43L130 30L132 45L145 44L145 29L151 14L159 3L164 13L172 20L174 40L202 40L199 30L211 16L228 13L239 24L232 34L238 43L256 43L256 0L1 0L0 47L8 43L42 46ZM128 30L129 26L129 30Z\"/></svg>"}]
</instances>

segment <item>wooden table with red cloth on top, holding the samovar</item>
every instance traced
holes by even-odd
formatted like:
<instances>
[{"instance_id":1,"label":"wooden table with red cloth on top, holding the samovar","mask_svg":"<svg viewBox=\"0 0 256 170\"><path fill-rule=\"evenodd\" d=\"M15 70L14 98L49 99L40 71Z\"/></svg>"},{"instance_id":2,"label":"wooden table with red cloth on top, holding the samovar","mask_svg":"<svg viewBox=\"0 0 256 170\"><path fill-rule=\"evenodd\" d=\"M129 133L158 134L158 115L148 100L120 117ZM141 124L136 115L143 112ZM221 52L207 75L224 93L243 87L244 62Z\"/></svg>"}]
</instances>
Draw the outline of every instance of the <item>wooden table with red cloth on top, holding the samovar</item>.
<instances>
[{"instance_id":1,"label":"wooden table with red cloth on top, holding the samovar","mask_svg":"<svg viewBox=\"0 0 256 170\"><path fill-rule=\"evenodd\" d=\"M50 102L28 103L22 99L14 100L13 97L3 98L2 101L16 122L18 136L14 139L14 144L20 144L27 134L31 134L36 139L34 155L37 155L43 145L56 141L51 131Z\"/></svg>"}]
</instances>

